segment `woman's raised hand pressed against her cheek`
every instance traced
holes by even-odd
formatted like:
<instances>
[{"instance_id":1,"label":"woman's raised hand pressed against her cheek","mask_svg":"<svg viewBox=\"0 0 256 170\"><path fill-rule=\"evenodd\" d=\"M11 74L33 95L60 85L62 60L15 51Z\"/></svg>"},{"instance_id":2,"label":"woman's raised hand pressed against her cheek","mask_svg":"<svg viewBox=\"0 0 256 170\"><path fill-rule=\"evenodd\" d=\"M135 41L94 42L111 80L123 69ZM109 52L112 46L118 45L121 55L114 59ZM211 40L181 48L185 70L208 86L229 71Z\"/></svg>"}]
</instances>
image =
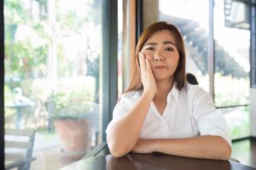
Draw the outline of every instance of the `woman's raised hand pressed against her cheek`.
<instances>
[{"instance_id":1,"label":"woman's raised hand pressed against her cheek","mask_svg":"<svg viewBox=\"0 0 256 170\"><path fill-rule=\"evenodd\" d=\"M154 94L156 93L156 84L153 72L151 70L151 65L148 59L145 59L145 55L143 53L139 53L139 61L141 65L141 78L143 82L143 93L148 93L154 98Z\"/></svg>"}]
</instances>

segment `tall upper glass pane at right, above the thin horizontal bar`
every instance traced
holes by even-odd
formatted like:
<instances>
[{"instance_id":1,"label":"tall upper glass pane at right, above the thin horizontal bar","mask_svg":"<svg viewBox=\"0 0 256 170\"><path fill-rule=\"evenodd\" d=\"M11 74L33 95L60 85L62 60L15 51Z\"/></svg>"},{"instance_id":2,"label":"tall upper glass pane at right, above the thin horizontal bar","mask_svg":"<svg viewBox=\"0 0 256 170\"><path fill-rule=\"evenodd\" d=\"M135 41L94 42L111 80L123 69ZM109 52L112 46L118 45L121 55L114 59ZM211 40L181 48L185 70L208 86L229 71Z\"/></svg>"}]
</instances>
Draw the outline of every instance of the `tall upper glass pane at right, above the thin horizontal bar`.
<instances>
[{"instance_id":1,"label":"tall upper glass pane at right, above the thin horizontal bar","mask_svg":"<svg viewBox=\"0 0 256 170\"><path fill-rule=\"evenodd\" d=\"M240 7L233 7L234 5L236 6L236 3L231 3L230 8ZM228 18L225 16L228 10L222 0L215 1L215 103L217 106L247 105L250 88L250 31L239 29L236 25L229 25L230 22L225 19ZM243 10L231 11L231 18L236 16L240 24L246 23L246 19L241 16L245 14L242 13Z\"/></svg>"}]
</instances>

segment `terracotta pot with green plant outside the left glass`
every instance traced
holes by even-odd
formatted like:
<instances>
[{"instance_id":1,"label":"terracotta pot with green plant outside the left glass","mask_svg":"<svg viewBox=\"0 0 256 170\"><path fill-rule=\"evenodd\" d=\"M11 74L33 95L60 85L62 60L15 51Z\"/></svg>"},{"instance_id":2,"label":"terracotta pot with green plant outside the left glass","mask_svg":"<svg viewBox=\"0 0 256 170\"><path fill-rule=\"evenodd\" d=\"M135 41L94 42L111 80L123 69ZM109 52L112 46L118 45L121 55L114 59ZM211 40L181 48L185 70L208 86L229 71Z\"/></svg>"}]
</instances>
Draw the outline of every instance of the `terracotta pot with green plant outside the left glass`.
<instances>
[{"instance_id":1,"label":"terracotta pot with green plant outside the left glass","mask_svg":"<svg viewBox=\"0 0 256 170\"><path fill-rule=\"evenodd\" d=\"M69 85L72 82L69 82ZM64 156L79 159L90 150L98 110L94 91L80 87L59 88L51 95L52 118L61 139Z\"/></svg>"}]
</instances>

